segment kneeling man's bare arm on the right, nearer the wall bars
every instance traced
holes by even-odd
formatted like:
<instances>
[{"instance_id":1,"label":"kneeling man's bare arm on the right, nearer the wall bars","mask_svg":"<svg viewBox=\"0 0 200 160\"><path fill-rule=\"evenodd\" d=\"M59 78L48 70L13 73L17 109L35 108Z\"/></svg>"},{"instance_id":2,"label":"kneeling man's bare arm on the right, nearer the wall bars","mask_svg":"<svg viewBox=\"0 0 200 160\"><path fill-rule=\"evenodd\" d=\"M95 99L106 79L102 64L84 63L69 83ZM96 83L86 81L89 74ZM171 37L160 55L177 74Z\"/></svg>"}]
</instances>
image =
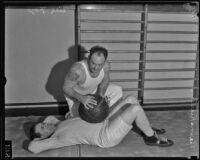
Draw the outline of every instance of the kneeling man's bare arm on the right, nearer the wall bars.
<instances>
[{"instance_id":1,"label":"kneeling man's bare arm on the right, nearer the wall bars","mask_svg":"<svg viewBox=\"0 0 200 160\"><path fill-rule=\"evenodd\" d=\"M102 97L104 97L104 94L105 94L105 92L108 88L108 84L110 82L110 75L109 75L110 64L108 61L105 62L103 69L104 69L104 78L98 86L98 94L101 95Z\"/></svg>"}]
</instances>

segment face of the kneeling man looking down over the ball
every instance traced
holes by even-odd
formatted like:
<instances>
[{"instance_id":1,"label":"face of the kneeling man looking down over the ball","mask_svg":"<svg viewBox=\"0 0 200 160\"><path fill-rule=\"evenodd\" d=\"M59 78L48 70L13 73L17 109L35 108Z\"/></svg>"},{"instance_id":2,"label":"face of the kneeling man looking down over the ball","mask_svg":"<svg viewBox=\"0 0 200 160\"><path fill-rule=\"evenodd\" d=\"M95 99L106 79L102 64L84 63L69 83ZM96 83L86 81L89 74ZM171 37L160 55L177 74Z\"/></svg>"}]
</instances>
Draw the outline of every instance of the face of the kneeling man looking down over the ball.
<instances>
[{"instance_id":1,"label":"face of the kneeling man looking down over the ball","mask_svg":"<svg viewBox=\"0 0 200 160\"><path fill-rule=\"evenodd\" d=\"M103 65L105 63L105 57L101 53L100 55L97 53L94 53L92 57L89 60L89 70L91 73L99 73L100 70L103 68Z\"/></svg>"}]
</instances>

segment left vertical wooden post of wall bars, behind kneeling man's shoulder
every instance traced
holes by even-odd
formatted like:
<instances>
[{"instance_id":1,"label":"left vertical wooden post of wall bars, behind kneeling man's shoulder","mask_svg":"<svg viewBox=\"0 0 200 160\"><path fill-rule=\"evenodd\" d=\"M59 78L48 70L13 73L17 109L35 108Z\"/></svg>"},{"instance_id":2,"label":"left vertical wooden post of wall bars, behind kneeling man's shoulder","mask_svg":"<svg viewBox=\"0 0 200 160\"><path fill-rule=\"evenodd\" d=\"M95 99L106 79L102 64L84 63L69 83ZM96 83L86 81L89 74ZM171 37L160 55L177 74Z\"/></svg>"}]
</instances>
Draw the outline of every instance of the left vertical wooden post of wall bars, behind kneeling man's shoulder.
<instances>
[{"instance_id":1,"label":"left vertical wooden post of wall bars, behind kneeling man's shoulder","mask_svg":"<svg viewBox=\"0 0 200 160\"><path fill-rule=\"evenodd\" d=\"M75 46L77 48L78 60L81 60L81 46L80 46L80 6L76 4L75 8Z\"/></svg>"}]
</instances>

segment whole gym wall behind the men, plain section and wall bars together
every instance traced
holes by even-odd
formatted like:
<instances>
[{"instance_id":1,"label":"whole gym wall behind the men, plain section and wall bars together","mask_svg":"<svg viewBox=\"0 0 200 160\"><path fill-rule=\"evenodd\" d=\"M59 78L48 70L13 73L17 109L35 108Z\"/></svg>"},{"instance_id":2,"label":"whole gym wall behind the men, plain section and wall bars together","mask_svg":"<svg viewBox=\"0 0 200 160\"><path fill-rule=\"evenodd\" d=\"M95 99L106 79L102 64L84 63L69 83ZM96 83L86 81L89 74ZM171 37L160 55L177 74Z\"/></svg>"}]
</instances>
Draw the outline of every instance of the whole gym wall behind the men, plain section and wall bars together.
<instances>
[{"instance_id":1,"label":"whole gym wall behind the men, plain section and wall bars together","mask_svg":"<svg viewBox=\"0 0 200 160\"><path fill-rule=\"evenodd\" d=\"M83 56L78 44L106 47L111 81L146 108L188 106L198 97L198 18L182 5L7 8L6 109L63 102L66 71Z\"/></svg>"}]
</instances>

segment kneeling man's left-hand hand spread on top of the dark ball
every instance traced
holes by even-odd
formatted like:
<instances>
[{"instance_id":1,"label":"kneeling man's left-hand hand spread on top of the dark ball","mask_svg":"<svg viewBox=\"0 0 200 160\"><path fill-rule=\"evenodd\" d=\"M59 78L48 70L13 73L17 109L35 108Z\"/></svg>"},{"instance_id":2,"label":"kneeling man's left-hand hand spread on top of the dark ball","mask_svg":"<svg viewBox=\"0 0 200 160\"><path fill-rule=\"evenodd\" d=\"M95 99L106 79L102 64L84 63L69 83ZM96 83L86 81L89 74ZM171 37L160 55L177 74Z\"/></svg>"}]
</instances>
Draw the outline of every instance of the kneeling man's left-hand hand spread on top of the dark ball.
<instances>
[{"instance_id":1,"label":"kneeling man's left-hand hand spread on top of the dark ball","mask_svg":"<svg viewBox=\"0 0 200 160\"><path fill-rule=\"evenodd\" d=\"M86 109L94 108L94 106L97 105L97 101L92 95L83 96L81 103L85 106Z\"/></svg>"}]
</instances>

